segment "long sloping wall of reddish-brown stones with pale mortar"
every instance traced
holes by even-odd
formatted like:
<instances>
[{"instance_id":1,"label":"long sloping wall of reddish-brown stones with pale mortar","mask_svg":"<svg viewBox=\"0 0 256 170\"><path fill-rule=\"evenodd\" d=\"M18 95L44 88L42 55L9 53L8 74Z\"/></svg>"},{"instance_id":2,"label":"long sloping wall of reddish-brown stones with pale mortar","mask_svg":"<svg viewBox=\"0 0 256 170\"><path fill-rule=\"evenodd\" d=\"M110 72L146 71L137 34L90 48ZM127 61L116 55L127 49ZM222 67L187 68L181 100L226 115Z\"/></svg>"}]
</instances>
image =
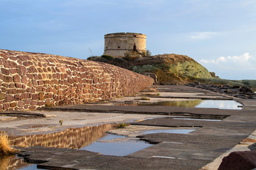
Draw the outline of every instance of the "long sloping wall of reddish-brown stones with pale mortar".
<instances>
[{"instance_id":1,"label":"long sloping wall of reddish-brown stones with pale mortar","mask_svg":"<svg viewBox=\"0 0 256 170\"><path fill-rule=\"evenodd\" d=\"M149 77L110 64L0 50L0 111L127 96L153 82Z\"/></svg>"}]
</instances>

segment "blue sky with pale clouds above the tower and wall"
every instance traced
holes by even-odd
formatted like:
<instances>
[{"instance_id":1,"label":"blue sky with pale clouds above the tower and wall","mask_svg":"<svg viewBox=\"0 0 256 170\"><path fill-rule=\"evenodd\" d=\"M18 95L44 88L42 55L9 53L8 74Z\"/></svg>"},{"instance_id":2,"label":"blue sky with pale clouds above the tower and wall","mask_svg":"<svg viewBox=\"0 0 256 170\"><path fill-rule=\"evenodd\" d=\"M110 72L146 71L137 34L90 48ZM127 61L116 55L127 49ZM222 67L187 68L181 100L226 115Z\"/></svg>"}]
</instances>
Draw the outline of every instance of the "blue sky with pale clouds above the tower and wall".
<instances>
[{"instance_id":1,"label":"blue sky with pale clouds above the tower and wall","mask_svg":"<svg viewBox=\"0 0 256 170\"><path fill-rule=\"evenodd\" d=\"M255 0L0 0L0 49L87 59L107 33L146 34L222 79L256 79Z\"/></svg>"}]
</instances>

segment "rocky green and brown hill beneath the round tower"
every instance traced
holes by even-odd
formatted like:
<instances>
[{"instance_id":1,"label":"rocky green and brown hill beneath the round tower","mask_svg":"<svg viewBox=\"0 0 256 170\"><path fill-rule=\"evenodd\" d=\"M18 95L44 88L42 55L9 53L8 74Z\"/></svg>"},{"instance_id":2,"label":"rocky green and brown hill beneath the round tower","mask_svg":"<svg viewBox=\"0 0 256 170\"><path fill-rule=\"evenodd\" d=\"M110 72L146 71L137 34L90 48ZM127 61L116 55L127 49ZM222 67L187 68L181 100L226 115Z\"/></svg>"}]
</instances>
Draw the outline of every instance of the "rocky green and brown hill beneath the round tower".
<instances>
[{"instance_id":1,"label":"rocky green and brown hill beneath the round tower","mask_svg":"<svg viewBox=\"0 0 256 170\"><path fill-rule=\"evenodd\" d=\"M195 79L213 79L214 74L186 55L164 54L150 57L117 58L90 57L89 60L107 62L134 72L152 72L162 84L184 84Z\"/></svg>"}]
</instances>

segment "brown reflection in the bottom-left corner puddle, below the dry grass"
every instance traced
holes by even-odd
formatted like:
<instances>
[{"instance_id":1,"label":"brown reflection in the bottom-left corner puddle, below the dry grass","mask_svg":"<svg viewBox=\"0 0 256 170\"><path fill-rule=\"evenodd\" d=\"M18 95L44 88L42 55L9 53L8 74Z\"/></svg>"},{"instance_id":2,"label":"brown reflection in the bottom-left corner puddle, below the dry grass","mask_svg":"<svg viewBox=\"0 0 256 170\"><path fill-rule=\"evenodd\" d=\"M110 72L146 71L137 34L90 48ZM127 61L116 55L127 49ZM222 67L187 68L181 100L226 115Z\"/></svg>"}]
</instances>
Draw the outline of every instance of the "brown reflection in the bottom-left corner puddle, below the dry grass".
<instances>
[{"instance_id":1,"label":"brown reflection in the bottom-left corner puddle, below the dry grass","mask_svg":"<svg viewBox=\"0 0 256 170\"><path fill-rule=\"evenodd\" d=\"M0 157L1 170L20 169L23 166L28 166L28 164L23 159L18 159L15 155Z\"/></svg>"}]
</instances>

